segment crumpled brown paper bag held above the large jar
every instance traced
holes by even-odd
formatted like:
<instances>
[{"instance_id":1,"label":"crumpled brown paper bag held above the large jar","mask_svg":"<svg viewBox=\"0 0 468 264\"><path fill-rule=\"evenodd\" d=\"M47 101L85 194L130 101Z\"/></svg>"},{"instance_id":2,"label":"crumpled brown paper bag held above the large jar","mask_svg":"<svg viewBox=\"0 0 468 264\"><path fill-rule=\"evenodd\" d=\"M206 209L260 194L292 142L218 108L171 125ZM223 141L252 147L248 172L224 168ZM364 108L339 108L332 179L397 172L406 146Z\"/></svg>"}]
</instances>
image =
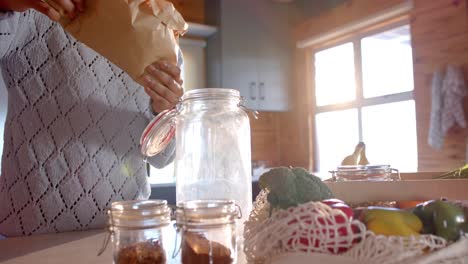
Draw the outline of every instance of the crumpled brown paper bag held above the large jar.
<instances>
[{"instance_id":1,"label":"crumpled brown paper bag held above the large jar","mask_svg":"<svg viewBox=\"0 0 468 264\"><path fill-rule=\"evenodd\" d=\"M151 63L177 63L179 36L188 28L165 0L88 0L83 14L61 24L139 83Z\"/></svg>"}]
</instances>

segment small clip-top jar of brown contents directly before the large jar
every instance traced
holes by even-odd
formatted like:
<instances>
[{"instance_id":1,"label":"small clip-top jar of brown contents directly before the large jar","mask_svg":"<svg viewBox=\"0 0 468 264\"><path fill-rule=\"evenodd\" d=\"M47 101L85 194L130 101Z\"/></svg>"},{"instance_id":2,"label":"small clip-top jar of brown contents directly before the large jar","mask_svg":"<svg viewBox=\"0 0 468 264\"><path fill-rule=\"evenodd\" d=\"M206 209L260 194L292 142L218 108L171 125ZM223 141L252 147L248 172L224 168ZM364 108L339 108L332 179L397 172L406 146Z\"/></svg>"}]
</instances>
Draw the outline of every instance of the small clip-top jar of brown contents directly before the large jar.
<instances>
[{"instance_id":1,"label":"small clip-top jar of brown contents directly before the large jar","mask_svg":"<svg viewBox=\"0 0 468 264\"><path fill-rule=\"evenodd\" d=\"M181 263L237 263L236 219L239 217L241 213L234 201L180 203L176 225L182 240Z\"/></svg>"}]
</instances>

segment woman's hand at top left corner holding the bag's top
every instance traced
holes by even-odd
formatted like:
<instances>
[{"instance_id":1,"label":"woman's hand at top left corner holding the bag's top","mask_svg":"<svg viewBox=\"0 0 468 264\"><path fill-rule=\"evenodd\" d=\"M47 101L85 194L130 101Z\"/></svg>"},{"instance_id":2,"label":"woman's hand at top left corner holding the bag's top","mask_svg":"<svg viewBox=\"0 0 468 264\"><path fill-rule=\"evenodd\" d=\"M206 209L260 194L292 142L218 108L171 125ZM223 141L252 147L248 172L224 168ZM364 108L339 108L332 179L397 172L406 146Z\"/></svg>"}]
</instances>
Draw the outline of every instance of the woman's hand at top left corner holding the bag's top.
<instances>
[{"instance_id":1,"label":"woman's hand at top left corner holding the bag's top","mask_svg":"<svg viewBox=\"0 0 468 264\"><path fill-rule=\"evenodd\" d=\"M74 18L78 12L83 12L84 2L85 0L0 0L0 9L16 12L35 9L58 21L62 15Z\"/></svg>"}]
</instances>

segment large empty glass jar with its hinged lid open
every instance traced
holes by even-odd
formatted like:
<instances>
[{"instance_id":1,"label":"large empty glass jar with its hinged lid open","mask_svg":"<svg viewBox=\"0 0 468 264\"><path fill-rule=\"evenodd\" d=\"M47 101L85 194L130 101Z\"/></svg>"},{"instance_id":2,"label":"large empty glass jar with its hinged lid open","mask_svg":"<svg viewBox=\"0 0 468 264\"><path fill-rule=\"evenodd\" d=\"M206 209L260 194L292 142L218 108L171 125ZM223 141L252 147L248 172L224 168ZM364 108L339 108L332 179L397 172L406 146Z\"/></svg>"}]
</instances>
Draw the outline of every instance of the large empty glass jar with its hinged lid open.
<instances>
[{"instance_id":1,"label":"large empty glass jar with its hinged lid open","mask_svg":"<svg viewBox=\"0 0 468 264\"><path fill-rule=\"evenodd\" d=\"M250 122L239 91L185 93L175 109L148 125L140 140L143 154L161 152L174 135L177 203L234 200L246 218L252 207Z\"/></svg>"}]
</instances>

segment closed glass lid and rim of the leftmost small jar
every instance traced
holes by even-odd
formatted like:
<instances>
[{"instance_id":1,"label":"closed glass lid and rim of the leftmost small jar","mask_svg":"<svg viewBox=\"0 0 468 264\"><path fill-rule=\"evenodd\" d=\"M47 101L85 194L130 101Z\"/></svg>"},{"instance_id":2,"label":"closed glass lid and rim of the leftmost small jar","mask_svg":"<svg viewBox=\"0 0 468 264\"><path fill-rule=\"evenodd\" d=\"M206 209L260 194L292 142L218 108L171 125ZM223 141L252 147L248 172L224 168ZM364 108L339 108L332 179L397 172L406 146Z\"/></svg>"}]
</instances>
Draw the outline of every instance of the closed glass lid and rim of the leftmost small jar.
<instances>
[{"instance_id":1,"label":"closed glass lid and rim of the leftmost small jar","mask_svg":"<svg viewBox=\"0 0 468 264\"><path fill-rule=\"evenodd\" d=\"M171 221L166 200L113 202L108 214L110 224L117 227L153 227Z\"/></svg>"}]
</instances>

